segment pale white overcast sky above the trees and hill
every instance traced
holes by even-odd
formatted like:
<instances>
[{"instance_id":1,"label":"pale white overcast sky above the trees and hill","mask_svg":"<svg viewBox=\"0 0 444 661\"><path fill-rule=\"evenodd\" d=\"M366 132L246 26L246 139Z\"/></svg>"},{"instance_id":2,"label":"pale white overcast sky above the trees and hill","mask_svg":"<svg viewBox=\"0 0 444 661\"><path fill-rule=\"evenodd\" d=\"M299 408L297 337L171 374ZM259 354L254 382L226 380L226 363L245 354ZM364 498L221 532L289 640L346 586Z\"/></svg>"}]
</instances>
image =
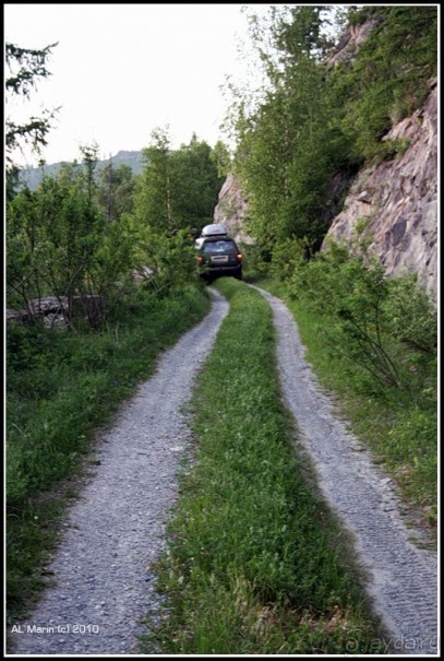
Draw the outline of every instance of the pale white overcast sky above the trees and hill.
<instances>
[{"instance_id":1,"label":"pale white overcast sky above the trees and hill","mask_svg":"<svg viewBox=\"0 0 444 661\"><path fill-rule=\"evenodd\" d=\"M169 125L172 146L191 135L214 144L228 102L226 75L244 75L239 42L250 43L242 4L4 4L5 42L43 48L58 42L32 103L8 103L15 119L61 106L48 134L48 164L140 150ZM263 13L271 5L248 4ZM28 158L29 165L35 165Z\"/></svg>"}]
</instances>

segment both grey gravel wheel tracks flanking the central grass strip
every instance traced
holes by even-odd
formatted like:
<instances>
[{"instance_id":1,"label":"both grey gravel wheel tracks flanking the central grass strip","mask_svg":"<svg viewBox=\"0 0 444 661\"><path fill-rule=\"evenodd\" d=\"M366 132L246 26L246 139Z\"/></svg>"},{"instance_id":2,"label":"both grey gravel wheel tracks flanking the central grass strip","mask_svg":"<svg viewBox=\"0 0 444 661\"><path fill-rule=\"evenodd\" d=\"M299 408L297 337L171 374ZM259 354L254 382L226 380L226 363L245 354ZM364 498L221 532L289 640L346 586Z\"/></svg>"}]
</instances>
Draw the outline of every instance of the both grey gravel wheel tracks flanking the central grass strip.
<instances>
[{"instance_id":1,"label":"both grey gravel wheel tracks flanking the central grass strip","mask_svg":"<svg viewBox=\"0 0 444 661\"><path fill-rule=\"evenodd\" d=\"M259 291L274 311L286 403L325 498L353 536L368 570L368 591L394 649L436 653L436 556L409 541L412 532L403 522L389 479L336 417L303 358L289 310ZM148 609L156 615L160 603L151 565L165 548L180 458L191 436L183 406L228 311L226 300L211 293L209 315L163 354L157 373L104 435L96 453L100 464L70 509L67 534L49 567L56 585L21 623L23 633L11 635L11 653L140 653L137 636L146 630L142 618ZM347 652L353 651L351 640Z\"/></svg>"}]
</instances>

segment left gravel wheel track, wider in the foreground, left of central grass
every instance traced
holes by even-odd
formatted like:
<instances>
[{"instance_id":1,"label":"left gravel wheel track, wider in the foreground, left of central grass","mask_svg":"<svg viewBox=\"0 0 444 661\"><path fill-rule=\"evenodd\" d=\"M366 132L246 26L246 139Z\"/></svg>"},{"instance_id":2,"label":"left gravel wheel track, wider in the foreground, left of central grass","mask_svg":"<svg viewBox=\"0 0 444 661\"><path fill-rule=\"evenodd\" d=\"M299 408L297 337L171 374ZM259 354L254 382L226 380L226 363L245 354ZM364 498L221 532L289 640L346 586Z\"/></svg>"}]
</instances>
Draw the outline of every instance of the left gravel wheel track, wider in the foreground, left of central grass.
<instances>
[{"instance_id":1,"label":"left gravel wheel track, wider in the foreground, left of central grass","mask_svg":"<svg viewBox=\"0 0 444 661\"><path fill-rule=\"evenodd\" d=\"M13 633L12 654L136 654L141 619L156 611L153 560L177 498L191 433L183 413L228 303L211 290L207 317L159 359L104 435L96 474L70 509L49 587Z\"/></svg>"}]
</instances>

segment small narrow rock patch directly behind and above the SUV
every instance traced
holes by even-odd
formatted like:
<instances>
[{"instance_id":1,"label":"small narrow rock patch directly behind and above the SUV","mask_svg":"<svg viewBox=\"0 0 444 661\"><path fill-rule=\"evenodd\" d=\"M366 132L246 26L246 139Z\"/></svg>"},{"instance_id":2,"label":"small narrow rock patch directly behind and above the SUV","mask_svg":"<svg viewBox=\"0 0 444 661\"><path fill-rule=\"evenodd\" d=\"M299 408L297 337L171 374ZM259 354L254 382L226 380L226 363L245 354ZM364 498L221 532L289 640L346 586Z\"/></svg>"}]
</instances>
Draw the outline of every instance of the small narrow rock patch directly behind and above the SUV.
<instances>
[{"instance_id":1,"label":"small narrow rock patch directly behind and above the SUV","mask_svg":"<svg viewBox=\"0 0 444 661\"><path fill-rule=\"evenodd\" d=\"M219 192L219 199L214 210L214 222L220 223L228 234L237 241L252 244L243 228L248 202L240 189L238 179L229 174Z\"/></svg>"}]
</instances>

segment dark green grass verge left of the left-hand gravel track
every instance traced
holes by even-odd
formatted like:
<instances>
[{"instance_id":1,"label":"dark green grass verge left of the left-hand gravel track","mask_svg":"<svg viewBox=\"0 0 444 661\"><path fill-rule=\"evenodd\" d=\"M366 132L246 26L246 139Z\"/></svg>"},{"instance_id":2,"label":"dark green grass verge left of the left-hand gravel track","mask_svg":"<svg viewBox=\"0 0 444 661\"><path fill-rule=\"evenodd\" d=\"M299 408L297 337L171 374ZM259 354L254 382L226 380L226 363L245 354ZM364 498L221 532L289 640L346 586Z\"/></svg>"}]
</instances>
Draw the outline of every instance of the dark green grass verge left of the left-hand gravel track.
<instances>
[{"instance_id":1,"label":"dark green grass verge left of the left-hand gravel track","mask_svg":"<svg viewBox=\"0 0 444 661\"><path fill-rule=\"evenodd\" d=\"M28 609L97 430L149 377L156 358L208 311L201 286L122 302L103 332L8 331L7 569L9 618ZM73 486L74 485L74 486Z\"/></svg>"}]
</instances>

